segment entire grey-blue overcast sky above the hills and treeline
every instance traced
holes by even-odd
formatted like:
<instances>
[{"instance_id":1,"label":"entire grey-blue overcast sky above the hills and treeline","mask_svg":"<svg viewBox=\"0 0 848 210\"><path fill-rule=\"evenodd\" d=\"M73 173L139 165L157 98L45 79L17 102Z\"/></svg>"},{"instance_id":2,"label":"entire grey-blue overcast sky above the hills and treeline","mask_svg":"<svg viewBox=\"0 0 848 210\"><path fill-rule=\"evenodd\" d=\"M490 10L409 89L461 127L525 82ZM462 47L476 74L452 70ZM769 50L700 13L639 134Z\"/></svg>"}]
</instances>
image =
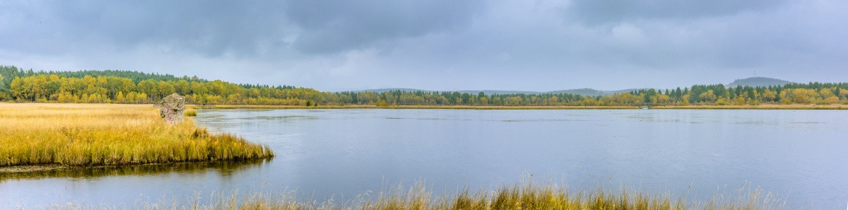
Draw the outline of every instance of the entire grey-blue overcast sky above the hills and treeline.
<instances>
[{"instance_id":1,"label":"entire grey-blue overcast sky above the hills and treeline","mask_svg":"<svg viewBox=\"0 0 848 210\"><path fill-rule=\"evenodd\" d=\"M7 1L0 64L351 91L848 81L848 1Z\"/></svg>"}]
</instances>

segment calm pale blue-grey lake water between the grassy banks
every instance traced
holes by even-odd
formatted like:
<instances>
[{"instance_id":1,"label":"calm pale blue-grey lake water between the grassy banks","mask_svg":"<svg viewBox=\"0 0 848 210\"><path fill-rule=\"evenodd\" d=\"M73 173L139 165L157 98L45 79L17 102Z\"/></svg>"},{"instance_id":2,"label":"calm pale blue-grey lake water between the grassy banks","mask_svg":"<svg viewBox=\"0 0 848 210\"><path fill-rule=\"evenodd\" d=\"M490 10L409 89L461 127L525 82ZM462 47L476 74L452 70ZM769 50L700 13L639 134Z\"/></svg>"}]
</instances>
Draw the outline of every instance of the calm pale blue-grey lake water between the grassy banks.
<instances>
[{"instance_id":1,"label":"calm pale blue-grey lake water between the grassy banks","mask_svg":"<svg viewBox=\"0 0 848 210\"><path fill-rule=\"evenodd\" d=\"M200 110L196 122L271 146L249 163L0 174L0 208L298 191L351 199L423 180L436 192L533 180L691 200L747 185L790 207L845 209L838 110Z\"/></svg>"}]
</instances>

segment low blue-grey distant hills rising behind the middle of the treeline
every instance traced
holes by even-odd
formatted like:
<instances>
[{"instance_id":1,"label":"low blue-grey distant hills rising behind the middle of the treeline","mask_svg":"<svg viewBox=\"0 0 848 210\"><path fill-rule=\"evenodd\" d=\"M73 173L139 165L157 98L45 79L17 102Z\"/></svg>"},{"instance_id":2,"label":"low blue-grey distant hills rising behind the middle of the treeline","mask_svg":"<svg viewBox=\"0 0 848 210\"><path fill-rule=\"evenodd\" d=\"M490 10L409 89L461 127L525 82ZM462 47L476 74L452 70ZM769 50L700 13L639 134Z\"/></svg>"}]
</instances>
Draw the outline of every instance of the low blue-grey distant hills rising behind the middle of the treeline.
<instances>
[{"instance_id":1,"label":"low blue-grey distant hills rising behind the middle of the treeline","mask_svg":"<svg viewBox=\"0 0 848 210\"><path fill-rule=\"evenodd\" d=\"M482 91L439 91L439 92L459 92L459 93L468 93L468 94L478 94L480 92L485 93L486 95L505 95L505 94L575 94L581 96L609 96L616 93L628 92L628 91L637 91L639 89L626 89L619 91L599 91L591 88L581 88L581 89L570 89L570 90L561 90L561 91L495 91L495 90L482 90ZM363 91L354 91L354 92L376 92L383 93L387 91L424 91L424 92L434 92L428 90L421 89L412 89L412 88L382 88L382 89L371 89L371 90L363 90Z\"/></svg>"}]
</instances>

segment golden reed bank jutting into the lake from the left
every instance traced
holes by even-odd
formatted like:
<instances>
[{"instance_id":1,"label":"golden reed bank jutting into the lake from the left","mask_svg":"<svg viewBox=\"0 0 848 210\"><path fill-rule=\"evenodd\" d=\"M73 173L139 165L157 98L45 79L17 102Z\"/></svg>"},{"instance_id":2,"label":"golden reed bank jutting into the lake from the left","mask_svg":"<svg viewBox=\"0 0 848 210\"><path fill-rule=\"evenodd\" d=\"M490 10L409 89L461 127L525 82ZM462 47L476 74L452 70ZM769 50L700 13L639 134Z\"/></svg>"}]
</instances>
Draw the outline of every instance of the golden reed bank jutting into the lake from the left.
<instances>
[{"instance_id":1,"label":"golden reed bank jutting into the lake from the left","mask_svg":"<svg viewBox=\"0 0 848 210\"><path fill-rule=\"evenodd\" d=\"M192 119L165 124L152 105L0 103L0 167L99 166L273 157Z\"/></svg>"}]
</instances>

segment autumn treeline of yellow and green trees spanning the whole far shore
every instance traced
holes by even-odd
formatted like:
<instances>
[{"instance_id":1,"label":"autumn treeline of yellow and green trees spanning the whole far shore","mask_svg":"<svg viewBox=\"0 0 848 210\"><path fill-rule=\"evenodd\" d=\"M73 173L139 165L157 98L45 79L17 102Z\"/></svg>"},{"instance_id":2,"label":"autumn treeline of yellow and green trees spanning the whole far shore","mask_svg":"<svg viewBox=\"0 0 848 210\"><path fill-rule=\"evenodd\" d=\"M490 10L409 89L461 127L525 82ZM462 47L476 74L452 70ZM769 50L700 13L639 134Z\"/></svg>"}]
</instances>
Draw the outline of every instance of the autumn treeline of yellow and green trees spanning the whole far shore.
<instances>
[{"instance_id":1,"label":"autumn treeline of yellow and green trees spanning the whole far shore","mask_svg":"<svg viewBox=\"0 0 848 210\"><path fill-rule=\"evenodd\" d=\"M644 89L610 96L566 93L387 91L321 92L293 86L232 84L221 80L134 71L44 72L0 66L0 98L18 102L152 103L178 93L193 104L256 105L470 105L470 106L640 106L848 103L848 83L785 86L696 85L672 90Z\"/></svg>"}]
</instances>

